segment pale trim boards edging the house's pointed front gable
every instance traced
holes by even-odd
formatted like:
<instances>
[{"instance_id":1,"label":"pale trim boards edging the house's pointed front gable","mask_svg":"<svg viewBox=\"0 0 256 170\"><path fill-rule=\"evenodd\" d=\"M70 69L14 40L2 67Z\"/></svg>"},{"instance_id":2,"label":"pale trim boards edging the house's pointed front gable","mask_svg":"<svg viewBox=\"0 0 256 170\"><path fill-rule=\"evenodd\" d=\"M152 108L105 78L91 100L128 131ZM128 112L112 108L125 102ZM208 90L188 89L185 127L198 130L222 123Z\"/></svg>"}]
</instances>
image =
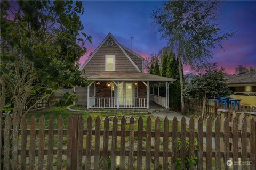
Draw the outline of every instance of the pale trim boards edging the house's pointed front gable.
<instances>
[{"instance_id":1,"label":"pale trim boards edging the house's pointed front gable","mask_svg":"<svg viewBox=\"0 0 256 170\"><path fill-rule=\"evenodd\" d=\"M139 67L132 61L131 57L125 52L125 50L123 49L123 47L118 43L118 41L115 39L115 37L109 32L108 35L103 39L103 41L101 42L101 44L94 50L94 52L92 53L92 55L86 60L86 62L79 68L79 70L83 70L84 67L90 62L90 60L92 59L92 57L98 52L98 50L100 49L100 47L105 43L105 41L111 37L115 43L117 44L117 46L122 50L122 52L124 53L124 55L128 58L128 60L133 64L133 66L139 71L142 72Z\"/></svg>"}]
</instances>

